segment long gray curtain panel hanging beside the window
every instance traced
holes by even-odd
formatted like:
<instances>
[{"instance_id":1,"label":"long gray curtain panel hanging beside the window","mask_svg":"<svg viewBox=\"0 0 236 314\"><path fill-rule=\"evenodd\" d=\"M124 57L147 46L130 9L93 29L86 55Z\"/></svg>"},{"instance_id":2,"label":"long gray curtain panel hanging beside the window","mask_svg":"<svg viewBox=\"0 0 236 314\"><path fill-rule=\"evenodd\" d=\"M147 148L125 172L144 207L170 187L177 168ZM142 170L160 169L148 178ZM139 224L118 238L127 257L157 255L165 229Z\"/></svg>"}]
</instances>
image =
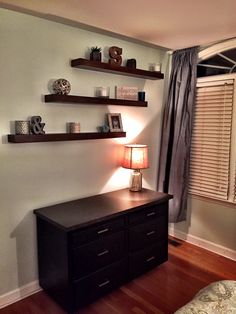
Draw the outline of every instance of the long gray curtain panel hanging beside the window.
<instances>
[{"instance_id":1,"label":"long gray curtain panel hanging beside the window","mask_svg":"<svg viewBox=\"0 0 236 314\"><path fill-rule=\"evenodd\" d=\"M173 53L158 177L158 190L173 195L169 203L169 222L186 219L197 59L197 47Z\"/></svg>"}]
</instances>

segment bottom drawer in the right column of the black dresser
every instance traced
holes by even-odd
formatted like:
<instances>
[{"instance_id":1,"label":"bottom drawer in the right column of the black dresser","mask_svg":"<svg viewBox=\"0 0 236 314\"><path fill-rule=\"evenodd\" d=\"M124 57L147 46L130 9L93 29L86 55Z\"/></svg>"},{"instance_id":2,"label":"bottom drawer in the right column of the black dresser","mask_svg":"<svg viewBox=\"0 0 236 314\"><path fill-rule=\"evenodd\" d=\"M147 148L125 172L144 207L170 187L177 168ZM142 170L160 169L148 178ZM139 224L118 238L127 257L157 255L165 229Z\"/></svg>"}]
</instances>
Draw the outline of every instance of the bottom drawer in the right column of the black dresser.
<instances>
[{"instance_id":1,"label":"bottom drawer in the right column of the black dresser","mask_svg":"<svg viewBox=\"0 0 236 314\"><path fill-rule=\"evenodd\" d=\"M167 259L168 247L165 240L147 249L133 253L129 259L130 276L131 278L136 277L167 261Z\"/></svg>"}]
</instances>

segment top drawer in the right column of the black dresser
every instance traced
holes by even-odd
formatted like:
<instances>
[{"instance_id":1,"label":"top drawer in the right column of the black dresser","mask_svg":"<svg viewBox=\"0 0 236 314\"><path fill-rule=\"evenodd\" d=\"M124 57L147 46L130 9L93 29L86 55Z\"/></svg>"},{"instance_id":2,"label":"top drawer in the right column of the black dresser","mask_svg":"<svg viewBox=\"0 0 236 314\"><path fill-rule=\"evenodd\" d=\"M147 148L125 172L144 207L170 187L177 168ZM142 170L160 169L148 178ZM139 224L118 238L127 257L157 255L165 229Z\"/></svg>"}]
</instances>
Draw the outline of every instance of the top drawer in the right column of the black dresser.
<instances>
[{"instance_id":1,"label":"top drawer in the right column of the black dresser","mask_svg":"<svg viewBox=\"0 0 236 314\"><path fill-rule=\"evenodd\" d=\"M132 214L129 214L128 219L130 224L137 224L146 221L151 221L156 217L162 215L168 215L167 203L150 206L145 209L136 211Z\"/></svg>"}]
</instances>

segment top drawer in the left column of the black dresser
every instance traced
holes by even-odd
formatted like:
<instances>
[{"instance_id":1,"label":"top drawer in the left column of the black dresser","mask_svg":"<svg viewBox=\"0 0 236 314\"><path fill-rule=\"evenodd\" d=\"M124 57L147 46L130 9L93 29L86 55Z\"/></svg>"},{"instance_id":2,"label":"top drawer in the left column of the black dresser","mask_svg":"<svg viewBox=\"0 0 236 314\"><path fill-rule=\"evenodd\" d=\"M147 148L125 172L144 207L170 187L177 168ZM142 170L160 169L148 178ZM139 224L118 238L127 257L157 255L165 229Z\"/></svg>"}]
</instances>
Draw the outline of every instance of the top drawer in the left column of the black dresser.
<instances>
[{"instance_id":1,"label":"top drawer in the left column of the black dresser","mask_svg":"<svg viewBox=\"0 0 236 314\"><path fill-rule=\"evenodd\" d=\"M96 224L84 230L71 234L71 245L73 247L98 240L113 232L119 231L124 227L124 217L108 220L104 223Z\"/></svg>"}]
</instances>

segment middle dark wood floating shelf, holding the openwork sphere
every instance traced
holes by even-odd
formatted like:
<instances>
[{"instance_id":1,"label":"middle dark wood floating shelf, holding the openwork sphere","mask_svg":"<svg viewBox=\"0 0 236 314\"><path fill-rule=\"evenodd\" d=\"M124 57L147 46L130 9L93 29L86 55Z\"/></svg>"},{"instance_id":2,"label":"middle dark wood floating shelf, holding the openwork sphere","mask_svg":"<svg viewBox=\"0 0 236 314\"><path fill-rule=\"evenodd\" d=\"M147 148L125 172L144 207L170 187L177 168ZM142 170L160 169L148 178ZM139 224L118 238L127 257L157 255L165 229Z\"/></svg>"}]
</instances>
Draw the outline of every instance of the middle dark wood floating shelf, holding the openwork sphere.
<instances>
[{"instance_id":1,"label":"middle dark wood floating shelf, holding the openwork sphere","mask_svg":"<svg viewBox=\"0 0 236 314\"><path fill-rule=\"evenodd\" d=\"M117 106L133 106L147 107L147 101L125 100L103 97L87 97L75 95L57 95L49 94L44 97L45 102L60 102L60 103L76 103L76 104L94 104L94 105L117 105Z\"/></svg>"}]
</instances>

